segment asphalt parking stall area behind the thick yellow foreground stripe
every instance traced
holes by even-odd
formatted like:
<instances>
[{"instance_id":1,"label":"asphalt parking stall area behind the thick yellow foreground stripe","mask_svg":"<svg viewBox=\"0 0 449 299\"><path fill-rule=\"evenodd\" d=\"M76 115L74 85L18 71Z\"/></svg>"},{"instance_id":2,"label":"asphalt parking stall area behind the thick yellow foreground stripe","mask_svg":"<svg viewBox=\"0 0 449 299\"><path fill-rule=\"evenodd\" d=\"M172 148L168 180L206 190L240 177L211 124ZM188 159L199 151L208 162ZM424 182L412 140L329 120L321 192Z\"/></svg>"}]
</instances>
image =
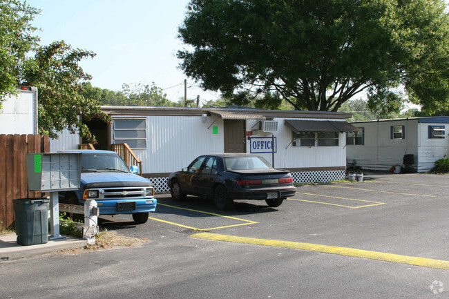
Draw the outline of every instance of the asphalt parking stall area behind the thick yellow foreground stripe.
<instances>
[{"instance_id":1,"label":"asphalt parking stall area behind the thick yellow foreground stripe","mask_svg":"<svg viewBox=\"0 0 449 299\"><path fill-rule=\"evenodd\" d=\"M306 242L421 258L449 260L447 175L365 174L361 183L305 184L278 208L237 202L220 211L213 202L158 195L155 222L173 231L229 234ZM446 242L441 242L446 241Z\"/></svg>"}]
</instances>

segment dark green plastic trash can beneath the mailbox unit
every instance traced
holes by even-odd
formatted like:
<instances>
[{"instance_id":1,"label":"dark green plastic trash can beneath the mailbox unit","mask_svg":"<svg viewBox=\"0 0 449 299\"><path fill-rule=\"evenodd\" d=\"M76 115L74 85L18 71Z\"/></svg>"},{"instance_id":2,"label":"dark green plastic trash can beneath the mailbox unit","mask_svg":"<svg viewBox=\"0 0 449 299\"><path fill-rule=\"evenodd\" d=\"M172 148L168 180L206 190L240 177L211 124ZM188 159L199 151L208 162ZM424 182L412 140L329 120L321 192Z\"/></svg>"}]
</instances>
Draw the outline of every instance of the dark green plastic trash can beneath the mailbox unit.
<instances>
[{"instance_id":1,"label":"dark green plastic trash can beneath the mailbox unit","mask_svg":"<svg viewBox=\"0 0 449 299\"><path fill-rule=\"evenodd\" d=\"M17 243L21 245L48 242L48 202L45 198L12 200Z\"/></svg>"}]
</instances>

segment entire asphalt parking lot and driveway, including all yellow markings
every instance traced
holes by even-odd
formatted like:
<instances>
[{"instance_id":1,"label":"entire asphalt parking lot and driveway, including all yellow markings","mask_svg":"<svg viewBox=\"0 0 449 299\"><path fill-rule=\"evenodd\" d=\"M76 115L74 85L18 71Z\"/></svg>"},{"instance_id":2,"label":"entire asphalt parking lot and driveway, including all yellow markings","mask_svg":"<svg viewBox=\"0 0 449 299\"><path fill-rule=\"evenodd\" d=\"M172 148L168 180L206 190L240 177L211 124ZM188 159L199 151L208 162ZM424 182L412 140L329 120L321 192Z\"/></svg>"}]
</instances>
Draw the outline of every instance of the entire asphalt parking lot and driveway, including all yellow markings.
<instances>
[{"instance_id":1,"label":"entire asphalt parking lot and driveway, including all yellow markings","mask_svg":"<svg viewBox=\"0 0 449 299\"><path fill-rule=\"evenodd\" d=\"M101 224L141 247L3 263L4 285L27 298L23 266L46 298L448 298L449 176L364 175L298 186L278 208L158 194L146 224Z\"/></svg>"}]
</instances>

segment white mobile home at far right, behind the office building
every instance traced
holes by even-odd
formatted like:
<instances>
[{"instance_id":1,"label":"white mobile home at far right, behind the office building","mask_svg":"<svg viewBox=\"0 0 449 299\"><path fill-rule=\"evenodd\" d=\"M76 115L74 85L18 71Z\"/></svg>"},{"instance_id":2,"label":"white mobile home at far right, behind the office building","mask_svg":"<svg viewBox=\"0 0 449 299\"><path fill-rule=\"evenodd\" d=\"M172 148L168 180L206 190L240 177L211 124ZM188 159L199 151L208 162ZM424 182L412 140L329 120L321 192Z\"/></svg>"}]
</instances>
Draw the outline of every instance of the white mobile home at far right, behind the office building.
<instances>
[{"instance_id":1,"label":"white mobile home at far right, behind the office building","mask_svg":"<svg viewBox=\"0 0 449 299\"><path fill-rule=\"evenodd\" d=\"M359 133L347 135L347 162L362 169L388 171L413 155L414 171L426 172L447 155L449 117L416 117L352 122Z\"/></svg>"}]
</instances>

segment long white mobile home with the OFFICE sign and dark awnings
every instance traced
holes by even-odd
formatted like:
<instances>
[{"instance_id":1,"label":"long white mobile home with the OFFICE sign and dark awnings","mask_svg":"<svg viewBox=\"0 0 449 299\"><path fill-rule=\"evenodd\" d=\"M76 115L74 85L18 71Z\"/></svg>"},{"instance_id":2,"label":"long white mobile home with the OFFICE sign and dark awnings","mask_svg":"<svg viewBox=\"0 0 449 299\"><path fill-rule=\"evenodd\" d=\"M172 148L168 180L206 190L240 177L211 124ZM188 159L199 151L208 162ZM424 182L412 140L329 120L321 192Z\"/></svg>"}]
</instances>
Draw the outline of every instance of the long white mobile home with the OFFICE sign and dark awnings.
<instances>
[{"instance_id":1,"label":"long white mobile home with the OFFICE sign and dark awnings","mask_svg":"<svg viewBox=\"0 0 449 299\"><path fill-rule=\"evenodd\" d=\"M103 106L112 123L88 122L97 149L126 143L142 160L142 174L168 191L169 173L208 153L258 153L295 182L342 180L346 133L356 131L347 113L252 108ZM76 149L79 136L63 133L50 151Z\"/></svg>"}]
</instances>

